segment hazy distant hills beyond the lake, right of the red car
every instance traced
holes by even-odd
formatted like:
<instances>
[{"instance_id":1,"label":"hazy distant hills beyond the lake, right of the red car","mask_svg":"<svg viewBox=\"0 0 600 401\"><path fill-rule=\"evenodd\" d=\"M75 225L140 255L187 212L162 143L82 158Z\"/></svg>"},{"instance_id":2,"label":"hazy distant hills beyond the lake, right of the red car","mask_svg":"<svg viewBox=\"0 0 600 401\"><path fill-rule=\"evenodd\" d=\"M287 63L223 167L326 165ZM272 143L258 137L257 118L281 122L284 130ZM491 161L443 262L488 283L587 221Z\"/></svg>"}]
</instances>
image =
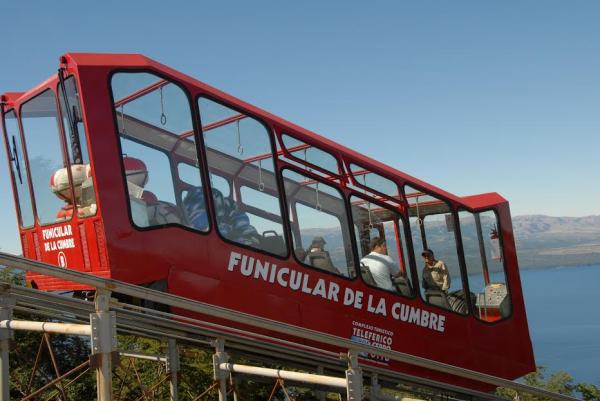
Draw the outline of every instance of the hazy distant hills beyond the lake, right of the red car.
<instances>
[{"instance_id":1,"label":"hazy distant hills beyond the lake, right of the red car","mask_svg":"<svg viewBox=\"0 0 600 401\"><path fill-rule=\"evenodd\" d=\"M522 268L600 264L600 216L513 217Z\"/></svg>"}]
</instances>

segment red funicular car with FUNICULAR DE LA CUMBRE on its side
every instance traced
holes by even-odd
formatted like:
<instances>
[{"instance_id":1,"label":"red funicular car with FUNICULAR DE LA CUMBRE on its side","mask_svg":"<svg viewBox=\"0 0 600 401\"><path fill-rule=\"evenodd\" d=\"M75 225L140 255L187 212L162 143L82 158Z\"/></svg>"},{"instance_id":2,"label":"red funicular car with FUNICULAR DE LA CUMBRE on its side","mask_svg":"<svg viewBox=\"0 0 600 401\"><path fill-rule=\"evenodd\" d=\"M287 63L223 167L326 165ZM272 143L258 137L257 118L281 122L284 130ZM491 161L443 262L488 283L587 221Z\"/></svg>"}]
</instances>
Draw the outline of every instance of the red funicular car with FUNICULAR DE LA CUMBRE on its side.
<instances>
[{"instance_id":1,"label":"red funicular car with FUNICULAR DE LA CUMBRE on its side","mask_svg":"<svg viewBox=\"0 0 600 401\"><path fill-rule=\"evenodd\" d=\"M66 54L5 93L2 116L27 258L503 378L534 370L496 193L452 195L141 55ZM424 288L427 250L446 288Z\"/></svg>"}]
</instances>

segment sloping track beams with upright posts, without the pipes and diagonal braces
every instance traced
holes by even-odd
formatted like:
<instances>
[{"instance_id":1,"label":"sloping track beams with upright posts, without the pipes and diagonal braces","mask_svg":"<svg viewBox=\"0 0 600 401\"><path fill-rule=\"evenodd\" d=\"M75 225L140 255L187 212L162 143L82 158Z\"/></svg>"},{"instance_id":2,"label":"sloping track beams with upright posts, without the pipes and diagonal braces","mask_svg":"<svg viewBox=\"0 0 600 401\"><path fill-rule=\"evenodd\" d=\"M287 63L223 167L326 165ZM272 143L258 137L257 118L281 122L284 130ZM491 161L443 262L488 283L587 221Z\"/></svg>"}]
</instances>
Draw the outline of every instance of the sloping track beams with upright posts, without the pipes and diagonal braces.
<instances>
[{"instance_id":1,"label":"sloping track beams with upright posts, without the pipes and diagonal braces","mask_svg":"<svg viewBox=\"0 0 600 401\"><path fill-rule=\"evenodd\" d=\"M216 353L213 357L213 363L215 364L215 380L219 384L219 400L226 401L226 390L227 390L227 372L222 372L219 369L220 363L226 363L228 356L224 352L224 341L227 339L228 344L234 344L235 347L247 347L251 344L252 349L260 350L271 350L275 351L276 354L290 353L292 350L301 350L301 352L309 353L314 360L332 361L335 358L333 352L327 351L326 348L321 347L309 347L298 342L283 340L280 338L265 336L258 334L260 330L271 331L278 333L279 335L289 335L294 338L299 338L304 341L312 341L321 345L329 345L337 347L337 349L350 350L347 356L348 370L346 371L346 382L348 388L348 400L360 400L362 396L362 372L358 365L358 353L368 352L379 356L389 358L394 361L406 363L412 366L421 367L437 371L439 373L450 374L458 377L462 377L469 380L475 380L481 383L487 383L494 386L503 386L511 388L518 393L528 393L545 398L549 398L556 401L574 401L573 397L557 394L548 390L535 388L522 383L513 382L510 380L495 377L489 374L484 374L468 369L451 366L434 360L428 360L425 358L416 357L407 353L398 351L392 351L381 348L374 348L372 346L355 343L349 339L333 336L326 333L319 333L312 330L308 330L303 327L293 326L282 322L277 322L269 319L264 319L258 316L252 316L223 307L217 307L206 303L186 299L183 297L175 296L172 294L165 294L160 291L155 291L149 288L139 287L132 284L127 284L112 279L104 279L96 277L90 274L79 272L76 270L60 269L46 263L36 262L24 259L22 257L9 255L0 252L0 264L11 268L27 270L30 272L43 274L51 277L61 278L72 282L84 284L96 289L97 297L95 304L95 313L91 313L91 308L85 301L73 301L69 303L65 300L56 301L59 305L58 310L68 311L72 318L65 318L60 313L53 313L52 310L40 310L37 305L39 300L52 300L61 298L58 296L51 296L36 290L25 289L21 287L11 287L10 285L2 285L0 283L0 298L6 300L5 295L14 296L18 302L14 307L15 310L23 311L26 313L38 314L41 316L47 316L50 318L65 319L66 321L77 321L82 322L89 316L92 324L92 356L90 362L97 370L98 377L98 401L112 401L111 394L111 367L113 357L118 358L116 352L116 318L115 313L109 310L110 292L115 291L119 294L129 295L136 298L145 299L148 301L160 302L162 304L169 305L171 307L185 309L189 312L216 316L220 319L235 321L239 324L251 326L257 329L257 331L247 331L231 327L225 327L223 325L209 323L206 321L200 321L184 317L181 315L171 315L168 313L157 313L151 316L151 322L146 321L145 316L149 316L148 313L153 313L144 308L137 308L135 312L131 311L131 306L117 305L119 316L123 313L123 318L120 318L120 330L126 333L139 333L141 335L148 335L155 337L160 333L162 338L177 338L186 342L192 343L204 343L206 344L209 338L218 337L219 340L211 342L213 347L216 349ZM7 291L8 288L8 291ZM25 297L25 298L22 298ZM24 299L24 301L23 301ZM44 301L45 302L45 301ZM48 301L51 302L51 301ZM5 302L6 303L6 302ZM10 320L10 311L12 307L6 304L0 306L0 313L3 318L1 320ZM13 303L14 305L14 303ZM68 306L67 306L68 305ZM66 309L62 309L62 308ZM72 308L71 308L72 307ZM69 309L71 308L71 309ZM141 313L140 313L141 312ZM175 319L172 320L172 319ZM157 330L158 329L158 330ZM184 334L182 334L182 331ZM8 333L8 334L7 334ZM0 365L2 365L2 382L8 381L6 375L6 367L8 366L8 340L10 338L10 330L3 329L0 327L0 345L2 346L2 353L0 355ZM194 333L190 336L189 334ZM188 334L188 335L185 335ZM196 335L200 335L203 339L197 340ZM338 359L339 361L339 359ZM333 363L333 362L332 362ZM339 366L339 365L338 365ZM381 371L382 375L389 378L403 378L415 383L425 383L425 385L439 388L451 388L453 391L458 391L465 394L471 394L480 398L486 399L497 399L496 396L481 393L475 390L462 388L459 386L443 384L440 382L432 381L426 378L415 377L399 372L391 372L376 367L368 367L369 372ZM383 376L382 376L383 377ZM8 385L3 385L2 392L0 392L0 401L8 400L9 394Z\"/></svg>"}]
</instances>

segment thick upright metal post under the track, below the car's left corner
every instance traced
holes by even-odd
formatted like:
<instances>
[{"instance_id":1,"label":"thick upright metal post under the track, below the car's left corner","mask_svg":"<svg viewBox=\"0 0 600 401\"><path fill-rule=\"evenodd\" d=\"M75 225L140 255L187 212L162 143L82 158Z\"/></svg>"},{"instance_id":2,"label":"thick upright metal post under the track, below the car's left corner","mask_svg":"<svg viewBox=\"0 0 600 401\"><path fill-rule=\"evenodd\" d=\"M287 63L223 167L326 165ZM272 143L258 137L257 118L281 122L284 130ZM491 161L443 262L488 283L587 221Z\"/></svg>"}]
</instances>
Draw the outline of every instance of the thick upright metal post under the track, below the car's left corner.
<instances>
[{"instance_id":1,"label":"thick upright metal post under the track, below the car's left corner","mask_svg":"<svg viewBox=\"0 0 600 401\"><path fill-rule=\"evenodd\" d=\"M113 358L118 361L117 320L110 311L110 291L99 290L95 300L96 313L90 315L92 335L90 362L96 368L98 401L112 401Z\"/></svg>"}]
</instances>

